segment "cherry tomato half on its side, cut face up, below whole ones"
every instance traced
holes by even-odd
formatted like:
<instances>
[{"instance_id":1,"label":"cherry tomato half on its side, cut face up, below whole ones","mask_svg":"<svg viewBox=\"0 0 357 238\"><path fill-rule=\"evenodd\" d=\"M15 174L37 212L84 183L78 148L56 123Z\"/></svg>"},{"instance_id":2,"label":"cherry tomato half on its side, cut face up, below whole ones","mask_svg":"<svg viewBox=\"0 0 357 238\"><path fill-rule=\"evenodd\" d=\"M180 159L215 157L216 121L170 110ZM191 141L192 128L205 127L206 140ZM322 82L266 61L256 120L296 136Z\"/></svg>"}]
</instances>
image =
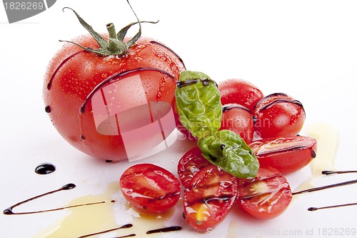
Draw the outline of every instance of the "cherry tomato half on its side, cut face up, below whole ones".
<instances>
[{"instance_id":1,"label":"cherry tomato half on its side, cut face up, below whole ones","mask_svg":"<svg viewBox=\"0 0 357 238\"><path fill-rule=\"evenodd\" d=\"M278 137L248 144L261 167L273 167L283 174L302 169L316 157L316 139L311 137Z\"/></svg>"}]
</instances>

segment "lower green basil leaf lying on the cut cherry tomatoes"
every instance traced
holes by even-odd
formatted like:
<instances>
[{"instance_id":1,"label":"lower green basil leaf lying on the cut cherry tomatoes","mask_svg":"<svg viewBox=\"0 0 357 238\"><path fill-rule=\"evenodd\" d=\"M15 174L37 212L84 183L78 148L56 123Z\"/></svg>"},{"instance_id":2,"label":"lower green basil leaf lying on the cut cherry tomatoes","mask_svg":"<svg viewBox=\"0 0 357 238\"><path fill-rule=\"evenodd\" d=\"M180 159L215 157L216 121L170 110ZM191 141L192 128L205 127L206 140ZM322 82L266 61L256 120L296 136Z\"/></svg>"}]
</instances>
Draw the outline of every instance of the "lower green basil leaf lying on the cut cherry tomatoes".
<instances>
[{"instance_id":1,"label":"lower green basil leaf lying on the cut cherry tomatoes","mask_svg":"<svg viewBox=\"0 0 357 238\"><path fill-rule=\"evenodd\" d=\"M198 139L197 144L203 157L234 177L256 177L259 169L258 159L238 134L221 130L213 136Z\"/></svg>"}]
</instances>

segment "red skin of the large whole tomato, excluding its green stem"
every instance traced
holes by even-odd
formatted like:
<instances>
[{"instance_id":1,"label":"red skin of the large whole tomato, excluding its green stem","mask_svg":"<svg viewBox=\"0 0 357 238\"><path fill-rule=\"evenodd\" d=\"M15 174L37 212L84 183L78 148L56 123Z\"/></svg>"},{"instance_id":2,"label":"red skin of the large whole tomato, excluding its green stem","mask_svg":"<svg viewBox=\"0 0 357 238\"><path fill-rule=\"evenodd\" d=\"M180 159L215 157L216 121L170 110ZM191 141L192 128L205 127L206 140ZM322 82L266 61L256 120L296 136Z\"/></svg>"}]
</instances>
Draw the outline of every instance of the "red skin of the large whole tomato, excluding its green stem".
<instances>
[{"instance_id":1,"label":"red skin of the large whole tomato, excluding its green stem","mask_svg":"<svg viewBox=\"0 0 357 238\"><path fill-rule=\"evenodd\" d=\"M74 41L98 48L91 36ZM174 51L145 37L124 56L99 56L65 44L46 72L46 112L82 152L113 161L135 157L176 127L171 106L183 69Z\"/></svg>"}]
</instances>

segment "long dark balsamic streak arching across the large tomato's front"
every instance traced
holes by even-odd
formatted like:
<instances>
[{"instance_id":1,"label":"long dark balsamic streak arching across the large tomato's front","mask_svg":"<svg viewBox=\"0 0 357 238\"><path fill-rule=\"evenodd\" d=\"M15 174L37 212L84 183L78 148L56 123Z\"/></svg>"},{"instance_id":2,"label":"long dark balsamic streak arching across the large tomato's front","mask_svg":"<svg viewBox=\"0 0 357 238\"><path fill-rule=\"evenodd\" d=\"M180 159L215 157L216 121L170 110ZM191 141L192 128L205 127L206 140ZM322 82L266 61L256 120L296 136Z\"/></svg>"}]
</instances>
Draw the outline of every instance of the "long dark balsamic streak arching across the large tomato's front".
<instances>
[{"instance_id":1,"label":"long dark balsamic streak arching across the large tomato's front","mask_svg":"<svg viewBox=\"0 0 357 238\"><path fill-rule=\"evenodd\" d=\"M86 105L88 104L88 101L92 98L92 96L96 93L96 91L101 90L104 85L111 83L112 81L116 81L117 78L120 78L121 76L126 76L127 74L131 74L134 72L138 71L158 71L161 74L165 74L166 76L171 77L171 79L175 80L175 77L169 74L167 71L164 71L162 69L156 69L156 68L150 68L150 67L144 67L144 68L137 68L137 69L131 69L127 71L122 71L122 72L117 72L116 74L112 74L108 78L104 79L104 81L101 81L101 83L97 84L94 89L86 96L86 99L84 100L84 103L81 105L79 109L79 113L83 114L84 111L86 111Z\"/></svg>"}]
</instances>

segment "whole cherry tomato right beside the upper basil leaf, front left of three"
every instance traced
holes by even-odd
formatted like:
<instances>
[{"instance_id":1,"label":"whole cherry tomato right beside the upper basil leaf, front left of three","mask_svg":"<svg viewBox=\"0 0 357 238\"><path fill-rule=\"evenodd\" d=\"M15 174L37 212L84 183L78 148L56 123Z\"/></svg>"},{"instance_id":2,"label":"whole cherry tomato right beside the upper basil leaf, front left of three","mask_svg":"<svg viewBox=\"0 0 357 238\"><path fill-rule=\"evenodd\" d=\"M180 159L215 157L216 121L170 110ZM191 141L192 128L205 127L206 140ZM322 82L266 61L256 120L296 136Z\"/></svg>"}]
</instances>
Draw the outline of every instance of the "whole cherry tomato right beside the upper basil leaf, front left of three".
<instances>
[{"instance_id":1,"label":"whole cherry tomato right beside the upper basil leaf, front left of three","mask_svg":"<svg viewBox=\"0 0 357 238\"><path fill-rule=\"evenodd\" d=\"M251 111L239 104L223 105L221 129L235 132L246 143L251 142L254 135L254 123Z\"/></svg>"}]
</instances>

